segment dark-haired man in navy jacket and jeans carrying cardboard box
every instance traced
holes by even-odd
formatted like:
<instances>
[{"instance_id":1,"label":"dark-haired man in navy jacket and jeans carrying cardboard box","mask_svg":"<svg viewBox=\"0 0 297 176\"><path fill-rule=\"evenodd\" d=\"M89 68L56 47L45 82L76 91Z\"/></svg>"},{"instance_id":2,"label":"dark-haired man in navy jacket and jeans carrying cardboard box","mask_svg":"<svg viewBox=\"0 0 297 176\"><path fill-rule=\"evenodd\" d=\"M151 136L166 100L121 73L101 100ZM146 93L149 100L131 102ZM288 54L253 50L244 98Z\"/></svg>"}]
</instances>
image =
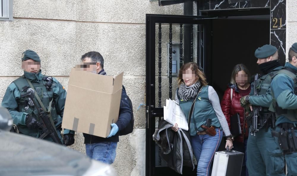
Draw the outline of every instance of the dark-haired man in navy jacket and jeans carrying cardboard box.
<instances>
[{"instance_id":1,"label":"dark-haired man in navy jacket and jeans carrying cardboard box","mask_svg":"<svg viewBox=\"0 0 297 176\"><path fill-rule=\"evenodd\" d=\"M83 71L106 75L103 69L104 60L99 52L91 51L81 56L83 62ZM100 97L98 97L100 99ZM107 138L83 133L86 144L86 154L92 159L112 164L116 158L116 147L119 142L119 131L123 130L132 118L132 110L129 105L128 96L123 86L121 93L121 103L119 109L119 119L111 124L111 130ZM104 101L104 100L102 100ZM98 112L98 118L100 112Z\"/></svg>"}]
</instances>

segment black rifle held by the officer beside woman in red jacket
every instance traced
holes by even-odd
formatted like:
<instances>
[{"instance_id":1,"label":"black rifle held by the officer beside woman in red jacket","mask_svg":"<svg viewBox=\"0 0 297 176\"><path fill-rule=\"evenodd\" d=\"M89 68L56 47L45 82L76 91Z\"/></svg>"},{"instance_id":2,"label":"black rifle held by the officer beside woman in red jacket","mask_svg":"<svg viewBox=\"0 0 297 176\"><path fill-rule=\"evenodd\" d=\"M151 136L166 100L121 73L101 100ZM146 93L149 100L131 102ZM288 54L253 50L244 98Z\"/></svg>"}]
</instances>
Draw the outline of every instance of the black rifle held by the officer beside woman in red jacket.
<instances>
[{"instance_id":1,"label":"black rifle held by the officer beside woman in red jacket","mask_svg":"<svg viewBox=\"0 0 297 176\"><path fill-rule=\"evenodd\" d=\"M258 96L258 91L257 91L257 81L259 80L259 74L255 75L255 80L254 80L254 95ZM256 136L256 133L259 131L258 129L258 117L259 113L262 110L260 106L252 106L253 107L253 115L252 115L252 127L251 127L251 135Z\"/></svg>"}]
</instances>

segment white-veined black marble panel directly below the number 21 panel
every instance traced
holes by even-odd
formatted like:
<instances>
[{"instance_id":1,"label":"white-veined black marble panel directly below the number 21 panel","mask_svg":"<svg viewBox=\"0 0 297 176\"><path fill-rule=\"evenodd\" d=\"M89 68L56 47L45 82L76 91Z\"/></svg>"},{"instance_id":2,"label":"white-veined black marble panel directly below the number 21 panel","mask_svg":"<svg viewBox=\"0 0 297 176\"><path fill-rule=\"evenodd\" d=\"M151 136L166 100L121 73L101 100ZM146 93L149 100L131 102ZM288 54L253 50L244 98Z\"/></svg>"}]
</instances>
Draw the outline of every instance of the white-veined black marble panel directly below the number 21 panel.
<instances>
[{"instance_id":1,"label":"white-veined black marble panel directly below the number 21 panel","mask_svg":"<svg viewBox=\"0 0 297 176\"><path fill-rule=\"evenodd\" d=\"M286 29L272 29L270 31L270 44L277 47L279 61L285 65L286 62Z\"/></svg>"}]
</instances>

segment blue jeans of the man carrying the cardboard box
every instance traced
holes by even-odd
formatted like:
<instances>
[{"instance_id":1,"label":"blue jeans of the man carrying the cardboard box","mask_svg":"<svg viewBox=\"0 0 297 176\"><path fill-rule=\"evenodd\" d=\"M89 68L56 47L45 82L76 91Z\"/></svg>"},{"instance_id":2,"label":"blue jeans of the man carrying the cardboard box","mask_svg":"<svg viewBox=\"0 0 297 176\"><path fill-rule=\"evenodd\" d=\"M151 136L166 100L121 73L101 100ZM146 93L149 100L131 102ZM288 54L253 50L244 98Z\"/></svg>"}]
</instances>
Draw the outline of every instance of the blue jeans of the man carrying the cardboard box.
<instances>
[{"instance_id":1,"label":"blue jeans of the man carrying the cardboard box","mask_svg":"<svg viewBox=\"0 0 297 176\"><path fill-rule=\"evenodd\" d=\"M86 144L86 154L91 159L112 164L116 158L117 142L100 142Z\"/></svg>"}]
</instances>

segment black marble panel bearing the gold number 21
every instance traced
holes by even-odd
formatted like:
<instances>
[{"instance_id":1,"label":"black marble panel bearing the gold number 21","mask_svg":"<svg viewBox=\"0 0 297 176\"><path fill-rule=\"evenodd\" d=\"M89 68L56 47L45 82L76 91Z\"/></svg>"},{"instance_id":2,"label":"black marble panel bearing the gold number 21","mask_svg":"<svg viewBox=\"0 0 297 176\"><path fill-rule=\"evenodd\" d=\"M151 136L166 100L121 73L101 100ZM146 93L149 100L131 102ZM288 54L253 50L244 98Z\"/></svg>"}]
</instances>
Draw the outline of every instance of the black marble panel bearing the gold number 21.
<instances>
[{"instance_id":1,"label":"black marble panel bearing the gold number 21","mask_svg":"<svg viewBox=\"0 0 297 176\"><path fill-rule=\"evenodd\" d=\"M271 29L286 28L286 0L271 0Z\"/></svg>"}]
</instances>

